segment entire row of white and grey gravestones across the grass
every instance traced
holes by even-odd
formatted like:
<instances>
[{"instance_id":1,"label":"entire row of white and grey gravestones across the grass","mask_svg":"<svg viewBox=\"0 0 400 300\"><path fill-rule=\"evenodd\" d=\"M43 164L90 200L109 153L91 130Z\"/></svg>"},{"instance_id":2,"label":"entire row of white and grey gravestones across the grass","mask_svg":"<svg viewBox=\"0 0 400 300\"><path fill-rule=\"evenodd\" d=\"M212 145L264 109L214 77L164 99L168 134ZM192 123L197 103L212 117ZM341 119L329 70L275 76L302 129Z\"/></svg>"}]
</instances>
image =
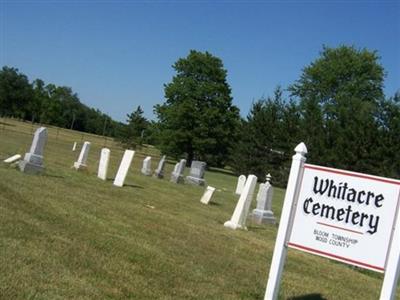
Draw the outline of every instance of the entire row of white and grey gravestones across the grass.
<instances>
[{"instance_id":1,"label":"entire row of white and grey gravestones across the grass","mask_svg":"<svg viewBox=\"0 0 400 300\"><path fill-rule=\"evenodd\" d=\"M41 127L36 130L30 151L25 154L24 159L19 162L19 168L23 172L27 173L39 173L43 170L43 153L44 146L47 141L47 129L45 127ZM75 151L76 142L73 145L72 150ZM84 142L81 152L79 154L78 160L74 163L74 168L76 170L86 169L86 161L89 155L90 142ZM121 164L118 168L117 175L114 179L114 185L123 186L126 175L128 173L129 167L132 163L133 156L135 151L126 150ZM20 156L19 156L20 157ZM9 159L6 159L5 162L12 162L15 159L19 159L18 155L14 155ZM101 150L99 169L98 169L98 177L106 180L107 178L107 169L110 159L110 150L107 148L103 148ZM158 168L156 169L154 176L158 178L163 178L164 173L164 165L165 165L165 155L161 158ZM186 160L182 159L179 163L177 163L174 167L173 172L171 173L171 181L175 183L183 182L183 171L186 165ZM189 183L194 183L198 185L204 185L204 171L206 164L200 161L193 161L190 174L186 177L186 181ZM141 172L144 175L151 175L151 157L148 156L143 161L143 167ZM272 205L272 186L270 184L270 175L267 175L267 182L260 184L260 188L257 194L257 208L252 212L252 219L256 223L275 223L275 217L271 210ZM246 179L246 176L241 175L238 178L238 184L236 187L236 194L240 195L239 201L236 205L236 208L233 212L231 219L224 223L225 227L237 229L237 228L246 228L246 220L248 211L250 208L250 204L253 198L254 190L257 183L257 177L255 175L249 175ZM201 198L201 202L204 204L208 204L214 193L215 188L208 186L205 190Z\"/></svg>"}]
</instances>

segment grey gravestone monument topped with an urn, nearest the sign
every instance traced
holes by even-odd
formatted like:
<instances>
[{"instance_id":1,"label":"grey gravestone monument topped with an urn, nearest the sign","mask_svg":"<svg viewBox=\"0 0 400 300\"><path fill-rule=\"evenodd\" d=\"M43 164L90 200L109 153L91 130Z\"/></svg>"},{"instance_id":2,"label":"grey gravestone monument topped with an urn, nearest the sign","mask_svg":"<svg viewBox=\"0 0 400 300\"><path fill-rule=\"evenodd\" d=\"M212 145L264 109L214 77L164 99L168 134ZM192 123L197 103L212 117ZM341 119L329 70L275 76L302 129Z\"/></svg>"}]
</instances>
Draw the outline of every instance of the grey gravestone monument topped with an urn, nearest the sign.
<instances>
[{"instance_id":1,"label":"grey gravestone monument topped with an urn, nearest the sign","mask_svg":"<svg viewBox=\"0 0 400 300\"><path fill-rule=\"evenodd\" d=\"M276 219L272 212L273 187L270 183L271 175L267 175L267 182L261 183L257 194L257 208L253 209L251 219L257 224L275 224Z\"/></svg>"}]
</instances>

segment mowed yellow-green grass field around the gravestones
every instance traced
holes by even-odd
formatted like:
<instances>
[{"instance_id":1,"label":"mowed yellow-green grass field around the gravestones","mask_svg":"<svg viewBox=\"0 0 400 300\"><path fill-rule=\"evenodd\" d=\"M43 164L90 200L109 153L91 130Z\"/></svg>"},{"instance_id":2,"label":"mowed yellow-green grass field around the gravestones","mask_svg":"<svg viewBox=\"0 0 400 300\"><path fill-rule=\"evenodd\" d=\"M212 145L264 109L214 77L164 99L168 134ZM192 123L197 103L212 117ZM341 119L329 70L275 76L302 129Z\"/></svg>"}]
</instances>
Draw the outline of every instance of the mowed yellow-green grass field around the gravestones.
<instances>
[{"instance_id":1,"label":"mowed yellow-green grass field around the gravestones","mask_svg":"<svg viewBox=\"0 0 400 300\"><path fill-rule=\"evenodd\" d=\"M1 119L0 119L1 120ZM24 155L37 126L0 123L0 158ZM263 299L277 227L223 226L238 197L237 178L207 171L217 188L141 175L137 151L125 186L114 187L123 149L111 139L48 128L45 172L26 175L0 162L1 299ZM90 141L88 171L71 168ZM96 177L100 149L111 149L109 180ZM268 170L266 170L268 171ZM274 190L279 219L284 190ZM255 199L253 200L255 206ZM382 275L289 249L280 299L378 299ZM399 294L399 293L398 293Z\"/></svg>"}]
</instances>

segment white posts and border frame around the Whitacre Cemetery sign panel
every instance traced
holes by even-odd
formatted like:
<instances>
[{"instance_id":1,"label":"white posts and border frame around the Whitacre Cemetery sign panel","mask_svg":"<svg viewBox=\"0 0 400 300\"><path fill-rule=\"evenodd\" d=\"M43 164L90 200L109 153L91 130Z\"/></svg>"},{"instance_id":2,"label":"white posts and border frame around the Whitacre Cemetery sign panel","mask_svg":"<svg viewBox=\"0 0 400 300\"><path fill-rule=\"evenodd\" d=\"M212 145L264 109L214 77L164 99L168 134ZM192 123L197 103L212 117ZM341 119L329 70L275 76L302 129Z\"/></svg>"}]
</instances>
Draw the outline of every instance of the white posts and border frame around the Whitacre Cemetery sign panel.
<instances>
[{"instance_id":1,"label":"white posts and border frame around the Whitacre Cemetery sign panel","mask_svg":"<svg viewBox=\"0 0 400 300\"><path fill-rule=\"evenodd\" d=\"M292 158L292 166L290 169L289 180L285 193L281 219L279 223L278 233L274 247L274 253L268 276L267 288L264 297L265 300L275 300L278 298L280 279L282 276L288 247L296 248L293 247L293 244L290 245L289 238L292 232L296 206L299 199L305 168L321 168L324 170L329 169L337 173L343 173L344 175L352 174L352 175L357 175L357 177L363 177L365 179L379 180L386 183L394 183L396 185L400 185L399 180L355 173L345 170L337 170L316 165L309 165L309 164L306 165L305 164L306 161L305 155L307 154L306 145L304 143L300 143L294 150L296 154ZM375 271L381 271L385 273L381 289L380 300L395 299L397 281L400 275L400 213L399 213L400 194L397 195L396 200L397 203L393 217L393 225L391 228L390 236L388 237L389 244L385 258L385 266L383 270L373 269ZM299 250L306 251L306 249L299 249ZM311 252L311 251L306 251L306 252ZM322 253L314 252L314 254L324 256L322 255ZM344 263L351 263L349 261L343 261L343 260L340 261ZM367 266L362 266L362 267L367 267Z\"/></svg>"}]
</instances>

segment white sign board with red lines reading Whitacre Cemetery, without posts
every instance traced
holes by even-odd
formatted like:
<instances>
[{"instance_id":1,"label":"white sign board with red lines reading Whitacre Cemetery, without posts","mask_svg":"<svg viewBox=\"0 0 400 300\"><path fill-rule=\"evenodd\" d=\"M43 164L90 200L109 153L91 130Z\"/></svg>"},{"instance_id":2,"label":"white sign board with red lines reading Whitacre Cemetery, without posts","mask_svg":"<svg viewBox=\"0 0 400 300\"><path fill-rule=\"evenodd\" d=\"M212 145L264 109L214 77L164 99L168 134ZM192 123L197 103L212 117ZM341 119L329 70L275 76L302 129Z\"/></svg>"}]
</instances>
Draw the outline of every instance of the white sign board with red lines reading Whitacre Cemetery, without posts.
<instances>
[{"instance_id":1,"label":"white sign board with red lines reading Whitacre Cemetery, without posts","mask_svg":"<svg viewBox=\"0 0 400 300\"><path fill-rule=\"evenodd\" d=\"M383 272L400 182L305 164L289 247Z\"/></svg>"}]
</instances>

